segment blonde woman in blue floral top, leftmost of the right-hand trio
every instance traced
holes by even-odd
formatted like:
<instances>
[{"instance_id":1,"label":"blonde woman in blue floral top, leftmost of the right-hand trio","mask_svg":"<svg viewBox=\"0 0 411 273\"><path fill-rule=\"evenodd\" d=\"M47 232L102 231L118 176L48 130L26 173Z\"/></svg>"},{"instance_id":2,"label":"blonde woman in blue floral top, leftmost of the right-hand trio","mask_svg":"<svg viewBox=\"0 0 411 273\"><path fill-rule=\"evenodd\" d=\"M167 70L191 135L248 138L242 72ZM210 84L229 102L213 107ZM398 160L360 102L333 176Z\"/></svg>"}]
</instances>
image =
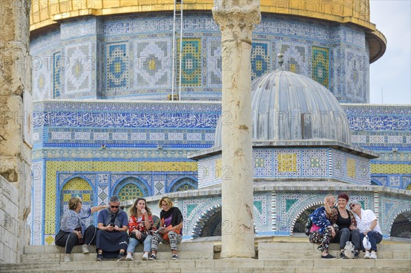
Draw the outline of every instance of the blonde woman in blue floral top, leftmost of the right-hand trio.
<instances>
[{"instance_id":1,"label":"blonde woman in blue floral top, leftmost of the right-hand trio","mask_svg":"<svg viewBox=\"0 0 411 273\"><path fill-rule=\"evenodd\" d=\"M336 257L328 253L329 242L336 237L338 232L338 226L331 224L327 219L326 209L330 209L336 203L336 198L331 194L325 196L324 207L319 207L313 213L310 214L312 221L312 227L310 229L310 235L308 238L312 244L320 244L319 250L321 250L321 259L335 259Z\"/></svg>"}]
</instances>

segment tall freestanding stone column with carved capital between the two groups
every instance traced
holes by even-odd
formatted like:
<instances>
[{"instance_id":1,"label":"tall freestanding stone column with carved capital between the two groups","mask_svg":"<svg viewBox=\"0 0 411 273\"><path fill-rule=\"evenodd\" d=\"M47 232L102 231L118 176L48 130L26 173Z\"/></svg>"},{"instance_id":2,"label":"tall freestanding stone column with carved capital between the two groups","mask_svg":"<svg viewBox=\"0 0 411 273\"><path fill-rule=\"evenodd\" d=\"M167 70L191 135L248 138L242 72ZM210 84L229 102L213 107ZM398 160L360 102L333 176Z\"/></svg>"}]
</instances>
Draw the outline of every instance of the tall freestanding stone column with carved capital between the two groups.
<instances>
[{"instance_id":1,"label":"tall freestanding stone column with carved capital between the two groups","mask_svg":"<svg viewBox=\"0 0 411 273\"><path fill-rule=\"evenodd\" d=\"M256 255L253 230L251 40L260 1L214 1L222 42L221 258Z\"/></svg>"}]
</instances>

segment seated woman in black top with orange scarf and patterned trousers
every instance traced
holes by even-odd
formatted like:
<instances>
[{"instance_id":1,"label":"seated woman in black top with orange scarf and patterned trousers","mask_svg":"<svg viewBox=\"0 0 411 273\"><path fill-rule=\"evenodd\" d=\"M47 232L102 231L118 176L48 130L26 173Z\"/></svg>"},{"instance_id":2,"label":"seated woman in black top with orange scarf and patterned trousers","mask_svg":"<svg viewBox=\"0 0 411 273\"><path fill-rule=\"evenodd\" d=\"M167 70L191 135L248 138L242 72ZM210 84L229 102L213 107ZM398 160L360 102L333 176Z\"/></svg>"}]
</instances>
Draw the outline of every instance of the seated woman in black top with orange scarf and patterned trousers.
<instances>
[{"instance_id":1,"label":"seated woman in black top with orange scarf and patterned trousers","mask_svg":"<svg viewBox=\"0 0 411 273\"><path fill-rule=\"evenodd\" d=\"M182 242L183 216L178 207L173 207L173 201L164 196L158 202L158 207L162 209L160 212L160 229L153 233L151 240L151 256L150 261L156 259L158 243L170 244L172 260L178 260L177 244Z\"/></svg>"}]
</instances>

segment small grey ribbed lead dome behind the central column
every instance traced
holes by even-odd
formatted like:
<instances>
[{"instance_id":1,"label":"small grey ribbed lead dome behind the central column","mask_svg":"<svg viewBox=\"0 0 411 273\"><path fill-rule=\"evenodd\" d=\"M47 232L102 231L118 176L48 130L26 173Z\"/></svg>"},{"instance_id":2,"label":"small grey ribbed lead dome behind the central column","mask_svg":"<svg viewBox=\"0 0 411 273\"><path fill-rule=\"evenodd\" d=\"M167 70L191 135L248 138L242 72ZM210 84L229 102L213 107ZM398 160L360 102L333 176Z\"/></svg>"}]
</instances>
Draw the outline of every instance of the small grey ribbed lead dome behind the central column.
<instances>
[{"instance_id":1,"label":"small grey ribbed lead dome behind the central column","mask_svg":"<svg viewBox=\"0 0 411 273\"><path fill-rule=\"evenodd\" d=\"M351 144L343 108L313 79L275 70L254 80L251 91L253 141L332 140ZM215 144L221 146L221 122Z\"/></svg>"}]
</instances>

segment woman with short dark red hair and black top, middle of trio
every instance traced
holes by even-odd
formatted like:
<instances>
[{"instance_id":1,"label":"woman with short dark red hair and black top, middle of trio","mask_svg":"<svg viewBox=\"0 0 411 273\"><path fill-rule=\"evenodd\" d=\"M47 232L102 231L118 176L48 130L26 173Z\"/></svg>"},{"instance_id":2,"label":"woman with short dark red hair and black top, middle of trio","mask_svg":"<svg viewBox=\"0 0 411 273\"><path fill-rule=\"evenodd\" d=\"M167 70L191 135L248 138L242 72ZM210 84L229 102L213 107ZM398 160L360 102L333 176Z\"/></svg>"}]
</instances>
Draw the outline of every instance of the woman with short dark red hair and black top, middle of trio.
<instances>
[{"instance_id":1,"label":"woman with short dark red hair and black top, middle of trio","mask_svg":"<svg viewBox=\"0 0 411 273\"><path fill-rule=\"evenodd\" d=\"M360 250L360 232L357 229L356 218L353 213L347 209L349 200L348 194L342 192L338 195L337 208L327 209L327 218L332 224L337 224L339 231L332 240L334 243L340 243L340 259L347 259L344 254L344 248L347 242L354 245L353 259L358 259L358 250Z\"/></svg>"}]
</instances>

